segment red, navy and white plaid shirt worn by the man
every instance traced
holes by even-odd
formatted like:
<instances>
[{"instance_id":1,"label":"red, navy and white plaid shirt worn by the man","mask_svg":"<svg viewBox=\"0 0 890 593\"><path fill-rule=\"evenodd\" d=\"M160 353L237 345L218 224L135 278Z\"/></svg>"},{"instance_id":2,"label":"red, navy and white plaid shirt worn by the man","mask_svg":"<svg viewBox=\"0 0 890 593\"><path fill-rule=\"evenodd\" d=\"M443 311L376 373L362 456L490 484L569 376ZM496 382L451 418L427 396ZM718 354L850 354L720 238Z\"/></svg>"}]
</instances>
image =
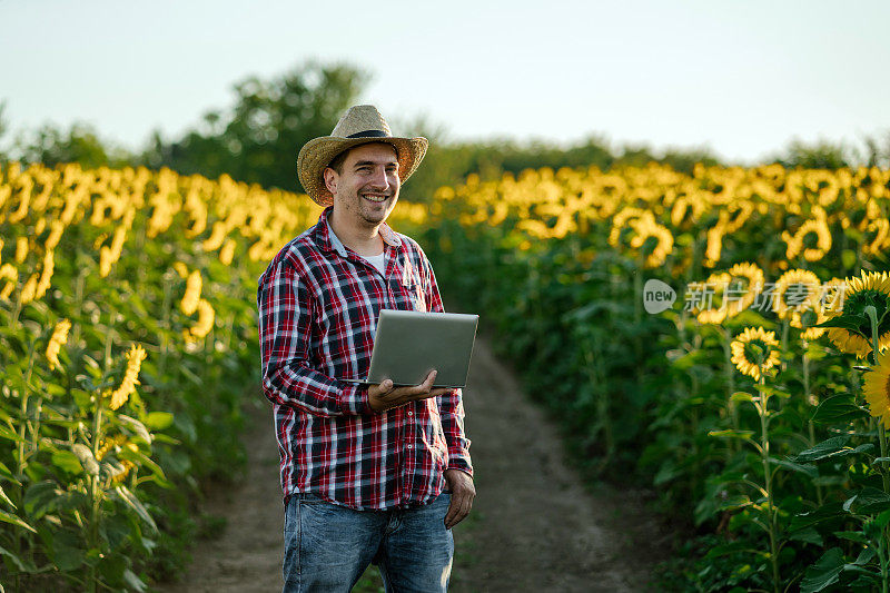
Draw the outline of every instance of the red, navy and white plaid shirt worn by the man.
<instances>
[{"instance_id":1,"label":"red, navy and white plaid shirt worn by the man","mask_svg":"<svg viewBox=\"0 0 890 593\"><path fill-rule=\"evenodd\" d=\"M386 273L336 239L327 208L259 277L263 392L273 403L285 505L310 492L352 508L425 504L444 471L473 474L461 389L374 412L362 378L380 309L442 312L433 268L380 226Z\"/></svg>"}]
</instances>

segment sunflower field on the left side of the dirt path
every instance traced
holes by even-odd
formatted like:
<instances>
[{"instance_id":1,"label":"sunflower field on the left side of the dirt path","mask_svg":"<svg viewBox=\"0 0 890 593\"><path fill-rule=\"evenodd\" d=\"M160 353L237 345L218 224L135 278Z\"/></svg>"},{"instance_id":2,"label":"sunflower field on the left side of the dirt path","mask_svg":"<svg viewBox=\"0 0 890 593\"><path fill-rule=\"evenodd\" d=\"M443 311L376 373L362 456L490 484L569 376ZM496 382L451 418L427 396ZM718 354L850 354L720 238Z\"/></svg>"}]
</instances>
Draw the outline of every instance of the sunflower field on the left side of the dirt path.
<instances>
[{"instance_id":1,"label":"sunflower field on the left side of the dirt path","mask_svg":"<svg viewBox=\"0 0 890 593\"><path fill-rule=\"evenodd\" d=\"M0 591L182 567L195 501L244 465L256 279L319 213L228 177L0 168Z\"/></svg>"}]
</instances>

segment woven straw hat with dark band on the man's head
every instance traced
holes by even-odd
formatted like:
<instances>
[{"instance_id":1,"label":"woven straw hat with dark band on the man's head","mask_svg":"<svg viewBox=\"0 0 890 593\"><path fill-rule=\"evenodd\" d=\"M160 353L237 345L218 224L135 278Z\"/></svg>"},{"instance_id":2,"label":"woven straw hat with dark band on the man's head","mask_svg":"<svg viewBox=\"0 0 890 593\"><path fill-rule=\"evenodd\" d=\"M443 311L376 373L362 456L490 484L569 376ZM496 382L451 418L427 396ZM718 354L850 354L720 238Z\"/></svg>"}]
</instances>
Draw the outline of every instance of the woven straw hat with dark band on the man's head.
<instances>
[{"instance_id":1,"label":"woven straw hat with dark band on the man's head","mask_svg":"<svg viewBox=\"0 0 890 593\"><path fill-rule=\"evenodd\" d=\"M368 142L386 142L393 145L398 154L398 177L404 182L426 155L426 138L396 138L377 108L373 105L350 107L330 136L313 138L299 149L297 156L297 177L306 189L306 194L322 206L334 204L334 196L325 187L325 167L334 157Z\"/></svg>"}]
</instances>

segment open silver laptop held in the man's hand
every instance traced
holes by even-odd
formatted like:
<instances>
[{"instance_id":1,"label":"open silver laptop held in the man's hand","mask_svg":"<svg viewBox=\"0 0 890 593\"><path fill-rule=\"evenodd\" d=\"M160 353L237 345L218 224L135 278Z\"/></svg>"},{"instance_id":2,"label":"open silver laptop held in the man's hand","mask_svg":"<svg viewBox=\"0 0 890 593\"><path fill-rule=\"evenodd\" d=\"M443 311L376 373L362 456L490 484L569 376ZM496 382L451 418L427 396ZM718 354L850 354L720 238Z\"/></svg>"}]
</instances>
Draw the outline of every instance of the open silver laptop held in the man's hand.
<instances>
[{"instance_id":1,"label":"open silver laptop held in the man's hand","mask_svg":"<svg viewBox=\"0 0 890 593\"><path fill-rule=\"evenodd\" d=\"M377 385L386 378L395 386L419 385L436 369L433 387L465 387L476 340L478 315L383 309L365 379Z\"/></svg>"}]
</instances>

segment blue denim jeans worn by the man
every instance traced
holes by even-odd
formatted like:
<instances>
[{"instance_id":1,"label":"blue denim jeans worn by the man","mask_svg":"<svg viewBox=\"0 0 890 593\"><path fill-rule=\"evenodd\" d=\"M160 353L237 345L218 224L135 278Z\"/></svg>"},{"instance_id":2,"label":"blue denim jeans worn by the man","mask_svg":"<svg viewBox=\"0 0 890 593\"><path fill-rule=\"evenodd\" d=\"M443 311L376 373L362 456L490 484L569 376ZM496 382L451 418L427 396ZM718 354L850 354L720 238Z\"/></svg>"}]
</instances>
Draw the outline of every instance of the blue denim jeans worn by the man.
<instances>
[{"instance_id":1,"label":"blue denim jeans worn by the man","mask_svg":"<svg viewBox=\"0 0 890 593\"><path fill-rule=\"evenodd\" d=\"M348 592L373 562L387 592L445 592L454 538L445 528L451 494L394 511L354 511L313 494L285 510L284 593Z\"/></svg>"}]
</instances>

